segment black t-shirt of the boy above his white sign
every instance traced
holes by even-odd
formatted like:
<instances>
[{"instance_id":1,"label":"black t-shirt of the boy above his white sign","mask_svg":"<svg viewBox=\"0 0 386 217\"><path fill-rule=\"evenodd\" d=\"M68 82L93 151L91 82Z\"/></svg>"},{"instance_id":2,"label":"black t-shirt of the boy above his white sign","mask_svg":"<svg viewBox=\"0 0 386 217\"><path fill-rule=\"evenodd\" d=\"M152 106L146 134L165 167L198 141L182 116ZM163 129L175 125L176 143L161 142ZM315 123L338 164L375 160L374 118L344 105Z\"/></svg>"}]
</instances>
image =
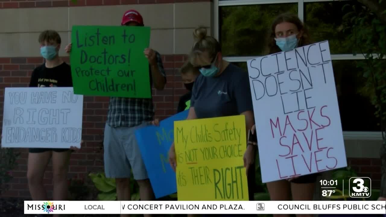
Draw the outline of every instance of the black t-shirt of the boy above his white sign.
<instances>
[{"instance_id":1,"label":"black t-shirt of the boy above his white sign","mask_svg":"<svg viewBox=\"0 0 386 217\"><path fill-rule=\"evenodd\" d=\"M72 87L71 67L62 63L54 68L47 68L43 63L32 72L30 87Z\"/></svg>"}]
</instances>

